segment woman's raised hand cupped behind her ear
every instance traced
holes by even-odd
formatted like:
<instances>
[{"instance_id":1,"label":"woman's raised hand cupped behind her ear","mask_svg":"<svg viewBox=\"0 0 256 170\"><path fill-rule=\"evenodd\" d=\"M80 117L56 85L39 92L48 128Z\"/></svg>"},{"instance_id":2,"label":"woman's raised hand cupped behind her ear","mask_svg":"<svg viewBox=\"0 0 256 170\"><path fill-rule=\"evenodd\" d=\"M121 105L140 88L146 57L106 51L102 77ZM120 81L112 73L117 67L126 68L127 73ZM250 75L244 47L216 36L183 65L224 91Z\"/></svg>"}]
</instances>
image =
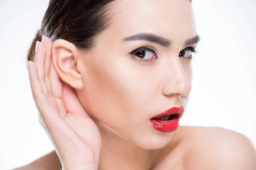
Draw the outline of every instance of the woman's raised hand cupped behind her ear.
<instances>
[{"instance_id":1,"label":"woman's raised hand cupped behind her ear","mask_svg":"<svg viewBox=\"0 0 256 170\"><path fill-rule=\"evenodd\" d=\"M52 41L38 42L35 61L28 61L30 85L39 122L47 132L62 168L96 170L101 150L99 129L75 92L58 76L51 58Z\"/></svg>"}]
</instances>

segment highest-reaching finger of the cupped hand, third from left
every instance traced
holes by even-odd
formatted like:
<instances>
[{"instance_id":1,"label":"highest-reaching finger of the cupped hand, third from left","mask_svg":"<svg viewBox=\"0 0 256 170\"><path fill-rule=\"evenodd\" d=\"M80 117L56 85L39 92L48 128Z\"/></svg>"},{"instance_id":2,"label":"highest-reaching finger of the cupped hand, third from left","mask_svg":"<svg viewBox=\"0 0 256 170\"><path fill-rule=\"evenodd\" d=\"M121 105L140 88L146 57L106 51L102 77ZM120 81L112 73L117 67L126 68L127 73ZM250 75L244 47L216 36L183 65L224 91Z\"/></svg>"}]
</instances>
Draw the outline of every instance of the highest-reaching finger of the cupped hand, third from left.
<instances>
[{"instance_id":1,"label":"highest-reaching finger of the cupped hand, third from left","mask_svg":"<svg viewBox=\"0 0 256 170\"><path fill-rule=\"evenodd\" d=\"M45 82L48 87L48 94L52 96L52 82L50 79L51 57L52 57L52 41L48 37L43 37L43 43L47 49L45 57Z\"/></svg>"}]
</instances>

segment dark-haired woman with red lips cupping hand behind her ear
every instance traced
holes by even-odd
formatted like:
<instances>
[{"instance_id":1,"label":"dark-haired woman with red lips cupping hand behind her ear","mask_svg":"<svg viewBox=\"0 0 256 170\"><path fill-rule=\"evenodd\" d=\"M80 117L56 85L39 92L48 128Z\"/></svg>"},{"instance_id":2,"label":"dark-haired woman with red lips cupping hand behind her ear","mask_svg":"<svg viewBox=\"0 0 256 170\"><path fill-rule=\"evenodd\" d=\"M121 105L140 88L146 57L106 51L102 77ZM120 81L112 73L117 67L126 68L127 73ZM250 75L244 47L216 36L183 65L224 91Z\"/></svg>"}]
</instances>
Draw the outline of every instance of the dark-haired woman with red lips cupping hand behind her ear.
<instances>
[{"instance_id":1,"label":"dark-haired woman with red lips cupping hand behind her ear","mask_svg":"<svg viewBox=\"0 0 256 170\"><path fill-rule=\"evenodd\" d=\"M245 136L178 127L198 41L189 0L51 0L27 68L55 151L18 169L255 170Z\"/></svg>"}]
</instances>

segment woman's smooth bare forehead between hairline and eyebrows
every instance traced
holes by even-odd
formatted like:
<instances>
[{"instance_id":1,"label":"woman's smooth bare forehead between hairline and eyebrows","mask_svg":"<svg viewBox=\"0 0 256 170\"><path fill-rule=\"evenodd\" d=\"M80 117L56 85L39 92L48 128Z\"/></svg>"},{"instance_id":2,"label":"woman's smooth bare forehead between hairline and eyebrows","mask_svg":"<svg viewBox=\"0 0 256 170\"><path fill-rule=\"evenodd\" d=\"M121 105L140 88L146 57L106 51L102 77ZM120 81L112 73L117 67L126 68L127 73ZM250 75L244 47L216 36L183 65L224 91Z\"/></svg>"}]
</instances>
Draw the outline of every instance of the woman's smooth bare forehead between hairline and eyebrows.
<instances>
[{"instance_id":1,"label":"woman's smooth bare forehead between hairline and eyebrows","mask_svg":"<svg viewBox=\"0 0 256 170\"><path fill-rule=\"evenodd\" d=\"M173 39L196 35L194 14L189 0L113 1L110 26L118 37L151 32Z\"/></svg>"}]
</instances>

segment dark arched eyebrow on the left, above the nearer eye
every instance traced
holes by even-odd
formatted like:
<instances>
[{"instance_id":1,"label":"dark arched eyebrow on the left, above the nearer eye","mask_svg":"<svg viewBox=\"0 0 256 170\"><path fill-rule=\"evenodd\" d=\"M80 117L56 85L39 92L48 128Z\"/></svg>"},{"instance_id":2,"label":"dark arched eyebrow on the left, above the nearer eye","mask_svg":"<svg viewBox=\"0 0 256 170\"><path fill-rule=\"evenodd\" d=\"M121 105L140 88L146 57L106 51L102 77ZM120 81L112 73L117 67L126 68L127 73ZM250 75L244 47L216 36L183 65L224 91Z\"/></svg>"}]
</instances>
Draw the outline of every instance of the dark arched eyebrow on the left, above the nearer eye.
<instances>
[{"instance_id":1,"label":"dark arched eyebrow on the left, above the nearer eye","mask_svg":"<svg viewBox=\"0 0 256 170\"><path fill-rule=\"evenodd\" d=\"M160 44L164 47L169 47L171 45L171 41L158 36L156 34L152 34L152 33L139 33L139 34L135 34L131 37L126 37L123 39L123 41L134 41L134 40L146 40L146 41L151 41L151 42L155 42L157 44Z\"/></svg>"}]
</instances>

